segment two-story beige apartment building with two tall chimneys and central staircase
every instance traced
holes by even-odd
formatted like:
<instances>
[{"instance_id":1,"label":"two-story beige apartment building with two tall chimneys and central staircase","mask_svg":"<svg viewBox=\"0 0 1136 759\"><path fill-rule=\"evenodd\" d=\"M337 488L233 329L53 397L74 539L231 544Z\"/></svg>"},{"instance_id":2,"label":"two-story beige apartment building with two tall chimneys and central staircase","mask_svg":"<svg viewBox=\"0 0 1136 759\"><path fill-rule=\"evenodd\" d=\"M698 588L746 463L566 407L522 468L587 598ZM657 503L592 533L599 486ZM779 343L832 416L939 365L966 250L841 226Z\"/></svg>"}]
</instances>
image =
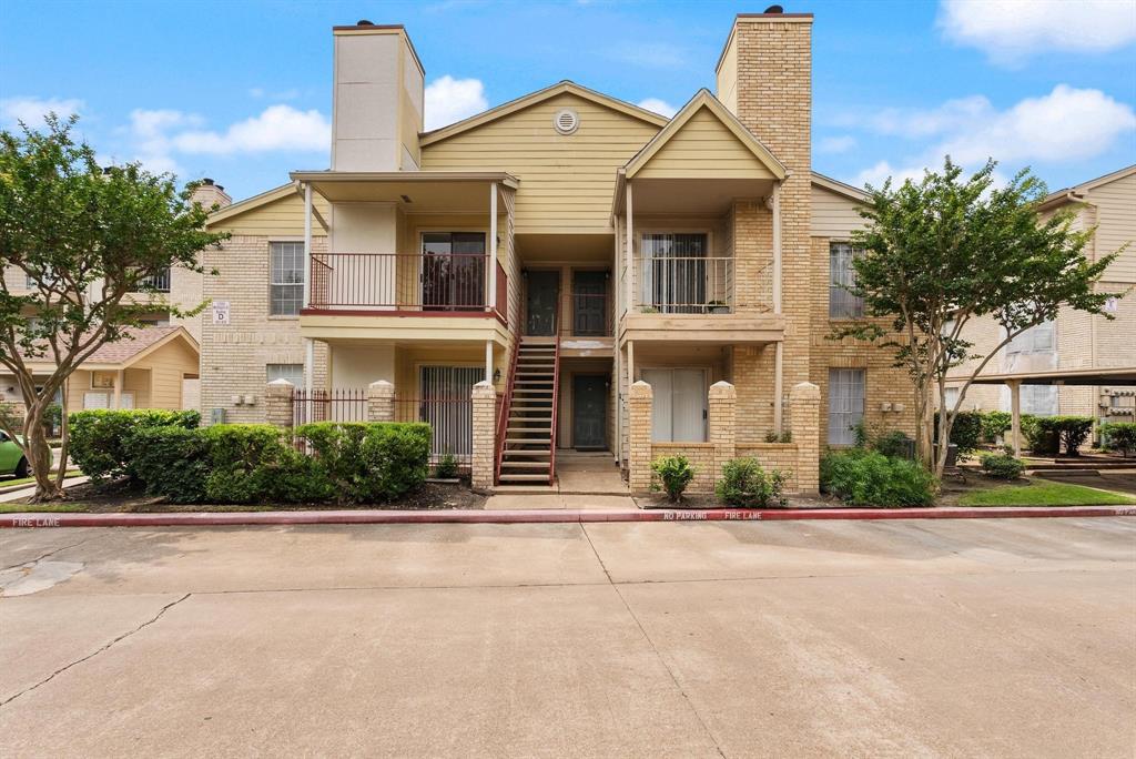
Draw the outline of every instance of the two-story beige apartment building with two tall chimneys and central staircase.
<instances>
[{"instance_id":1,"label":"two-story beige apartment building with two tall chimneys and central staircase","mask_svg":"<svg viewBox=\"0 0 1136 759\"><path fill-rule=\"evenodd\" d=\"M903 373L826 340L860 308L838 284L862 195L812 172L811 30L740 15L716 92L669 119L566 81L426 132L406 30L335 27L331 167L210 220L233 237L204 260L206 416L262 420L266 381L385 381L466 456L488 381L502 483L548 479L558 448L626 467L636 382L660 445L707 444L719 381L738 445L787 439L807 382L821 443L861 418L910 431Z\"/></svg>"}]
</instances>

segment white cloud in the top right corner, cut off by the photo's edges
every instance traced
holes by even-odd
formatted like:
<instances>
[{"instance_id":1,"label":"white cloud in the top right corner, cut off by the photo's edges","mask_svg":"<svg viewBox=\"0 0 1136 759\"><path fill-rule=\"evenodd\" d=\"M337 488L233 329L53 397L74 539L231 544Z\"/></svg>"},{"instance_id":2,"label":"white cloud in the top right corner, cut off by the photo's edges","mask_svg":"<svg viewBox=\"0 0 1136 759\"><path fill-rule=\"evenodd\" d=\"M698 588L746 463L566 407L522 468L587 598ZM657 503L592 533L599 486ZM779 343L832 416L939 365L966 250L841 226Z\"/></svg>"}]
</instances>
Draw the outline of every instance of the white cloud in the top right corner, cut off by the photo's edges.
<instances>
[{"instance_id":1,"label":"white cloud in the top right corner, cut off by the photo's edges","mask_svg":"<svg viewBox=\"0 0 1136 759\"><path fill-rule=\"evenodd\" d=\"M1136 41L1131 0L943 0L938 25L945 36L1018 64L1054 50L1105 52Z\"/></svg>"}]
</instances>

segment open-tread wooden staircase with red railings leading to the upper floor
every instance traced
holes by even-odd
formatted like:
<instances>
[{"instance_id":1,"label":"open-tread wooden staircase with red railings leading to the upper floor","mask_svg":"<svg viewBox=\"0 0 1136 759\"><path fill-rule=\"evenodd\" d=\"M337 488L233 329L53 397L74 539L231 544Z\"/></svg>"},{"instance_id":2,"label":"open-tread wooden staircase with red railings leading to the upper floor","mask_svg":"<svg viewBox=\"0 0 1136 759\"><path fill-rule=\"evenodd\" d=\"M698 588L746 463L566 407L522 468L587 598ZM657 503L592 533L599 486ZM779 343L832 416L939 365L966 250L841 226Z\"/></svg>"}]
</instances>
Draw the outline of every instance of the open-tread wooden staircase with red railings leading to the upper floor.
<instances>
[{"instance_id":1,"label":"open-tread wooden staircase with red railings leading to the upper floor","mask_svg":"<svg viewBox=\"0 0 1136 759\"><path fill-rule=\"evenodd\" d=\"M559 339L521 337L498 424L498 484L552 484L559 389Z\"/></svg>"}]
</instances>

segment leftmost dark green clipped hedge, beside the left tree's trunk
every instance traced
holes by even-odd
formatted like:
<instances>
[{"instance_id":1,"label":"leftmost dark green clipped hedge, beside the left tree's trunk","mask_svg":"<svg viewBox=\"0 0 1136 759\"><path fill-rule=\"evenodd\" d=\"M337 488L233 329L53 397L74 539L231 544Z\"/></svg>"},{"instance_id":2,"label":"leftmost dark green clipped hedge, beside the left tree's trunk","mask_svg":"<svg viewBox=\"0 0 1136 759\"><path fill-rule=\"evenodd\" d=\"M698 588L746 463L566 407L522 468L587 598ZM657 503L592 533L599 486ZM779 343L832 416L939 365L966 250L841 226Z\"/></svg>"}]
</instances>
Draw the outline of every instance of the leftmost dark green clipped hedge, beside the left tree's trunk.
<instances>
[{"instance_id":1,"label":"leftmost dark green clipped hedge, beside the left tree's trunk","mask_svg":"<svg viewBox=\"0 0 1136 759\"><path fill-rule=\"evenodd\" d=\"M131 435L150 427L193 429L201 422L197 411L160 409L76 411L68 417L68 452L75 465L94 482L114 477L136 478L133 457L127 456Z\"/></svg>"}]
</instances>

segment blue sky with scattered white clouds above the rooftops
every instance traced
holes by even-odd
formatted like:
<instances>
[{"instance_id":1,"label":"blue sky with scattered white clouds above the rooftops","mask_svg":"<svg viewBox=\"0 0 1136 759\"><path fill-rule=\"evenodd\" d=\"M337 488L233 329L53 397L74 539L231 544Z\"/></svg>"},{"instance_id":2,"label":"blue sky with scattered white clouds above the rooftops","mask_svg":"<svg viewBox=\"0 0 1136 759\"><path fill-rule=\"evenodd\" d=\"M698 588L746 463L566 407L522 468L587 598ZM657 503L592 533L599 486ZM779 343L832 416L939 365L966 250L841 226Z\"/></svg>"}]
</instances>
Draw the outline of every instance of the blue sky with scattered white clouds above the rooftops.
<instances>
[{"instance_id":1,"label":"blue sky with scattered white clouds above the rooftops","mask_svg":"<svg viewBox=\"0 0 1136 759\"><path fill-rule=\"evenodd\" d=\"M0 120L75 109L106 159L211 176L240 199L327 166L334 24L404 24L437 125L563 78L682 106L713 91L734 15L766 5L8 0ZM819 172L875 183L950 151L1056 189L1136 162L1133 0L783 5L816 15Z\"/></svg>"}]
</instances>

